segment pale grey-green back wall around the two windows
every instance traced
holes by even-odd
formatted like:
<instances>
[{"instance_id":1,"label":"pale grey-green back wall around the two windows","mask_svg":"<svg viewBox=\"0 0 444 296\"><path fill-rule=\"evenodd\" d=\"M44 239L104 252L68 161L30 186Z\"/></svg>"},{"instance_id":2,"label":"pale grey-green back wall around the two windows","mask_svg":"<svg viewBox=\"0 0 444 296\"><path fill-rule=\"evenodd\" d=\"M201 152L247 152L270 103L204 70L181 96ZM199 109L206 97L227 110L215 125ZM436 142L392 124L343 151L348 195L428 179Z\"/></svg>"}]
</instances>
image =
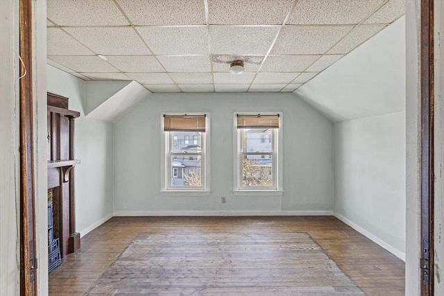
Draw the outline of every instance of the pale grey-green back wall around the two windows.
<instances>
[{"instance_id":1,"label":"pale grey-green back wall around the two windows","mask_svg":"<svg viewBox=\"0 0 444 296\"><path fill-rule=\"evenodd\" d=\"M233 112L283 112L282 197L234 196ZM211 195L160 194L161 112L210 112ZM114 213L333 210L332 123L292 94L153 94L114 125ZM227 203L221 203L221 197Z\"/></svg>"}]
</instances>

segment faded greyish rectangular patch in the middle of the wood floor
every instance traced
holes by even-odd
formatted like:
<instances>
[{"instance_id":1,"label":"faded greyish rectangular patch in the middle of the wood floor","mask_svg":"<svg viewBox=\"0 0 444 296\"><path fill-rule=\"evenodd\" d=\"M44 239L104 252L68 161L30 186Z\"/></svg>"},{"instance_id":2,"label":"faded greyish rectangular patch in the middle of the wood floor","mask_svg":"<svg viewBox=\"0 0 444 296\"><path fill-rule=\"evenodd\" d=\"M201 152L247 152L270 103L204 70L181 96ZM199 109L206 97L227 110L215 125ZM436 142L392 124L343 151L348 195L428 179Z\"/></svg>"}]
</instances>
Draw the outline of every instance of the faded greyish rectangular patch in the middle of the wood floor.
<instances>
[{"instance_id":1,"label":"faded greyish rectangular patch in the middle of the wood floor","mask_svg":"<svg viewBox=\"0 0 444 296\"><path fill-rule=\"evenodd\" d=\"M143 233L85 295L365 293L306 233Z\"/></svg>"}]
</instances>

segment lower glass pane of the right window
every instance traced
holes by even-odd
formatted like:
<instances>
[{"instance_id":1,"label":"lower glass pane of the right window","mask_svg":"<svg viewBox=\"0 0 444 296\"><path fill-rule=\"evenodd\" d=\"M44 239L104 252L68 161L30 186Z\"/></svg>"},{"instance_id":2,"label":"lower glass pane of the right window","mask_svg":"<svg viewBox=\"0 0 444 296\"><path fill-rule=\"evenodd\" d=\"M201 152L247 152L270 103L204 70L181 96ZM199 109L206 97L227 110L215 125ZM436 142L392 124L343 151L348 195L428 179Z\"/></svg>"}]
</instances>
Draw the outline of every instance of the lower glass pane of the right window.
<instances>
[{"instance_id":1,"label":"lower glass pane of the right window","mask_svg":"<svg viewBox=\"0 0 444 296\"><path fill-rule=\"evenodd\" d=\"M242 186L273 186L272 155L262 156L242 156Z\"/></svg>"}]
</instances>

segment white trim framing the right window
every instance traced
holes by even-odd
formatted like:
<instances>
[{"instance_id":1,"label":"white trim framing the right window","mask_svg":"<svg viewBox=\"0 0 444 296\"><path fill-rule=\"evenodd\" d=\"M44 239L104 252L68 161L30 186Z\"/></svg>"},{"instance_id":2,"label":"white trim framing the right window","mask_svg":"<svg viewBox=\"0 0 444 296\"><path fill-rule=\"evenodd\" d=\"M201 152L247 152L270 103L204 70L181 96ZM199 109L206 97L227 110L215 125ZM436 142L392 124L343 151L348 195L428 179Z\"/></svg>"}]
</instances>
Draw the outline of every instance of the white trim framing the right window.
<instances>
[{"instance_id":1,"label":"white trim framing the right window","mask_svg":"<svg viewBox=\"0 0 444 296\"><path fill-rule=\"evenodd\" d=\"M241 176L241 133L237 129L237 114L245 114L245 115L256 115L256 114L264 114L264 115L275 115L279 114L279 128L276 130L276 134L278 135L278 139L273 137L273 146L275 153L273 153L273 157L275 157L275 173L273 177L275 177L275 188L270 189L269 187L259 189L257 187L253 189L246 189L241 186L240 176ZM233 113L233 194L237 196L282 196L283 191L283 157L282 157L282 148L283 148L283 124L282 124L282 112L234 112ZM274 181L274 180L273 180Z\"/></svg>"}]
</instances>

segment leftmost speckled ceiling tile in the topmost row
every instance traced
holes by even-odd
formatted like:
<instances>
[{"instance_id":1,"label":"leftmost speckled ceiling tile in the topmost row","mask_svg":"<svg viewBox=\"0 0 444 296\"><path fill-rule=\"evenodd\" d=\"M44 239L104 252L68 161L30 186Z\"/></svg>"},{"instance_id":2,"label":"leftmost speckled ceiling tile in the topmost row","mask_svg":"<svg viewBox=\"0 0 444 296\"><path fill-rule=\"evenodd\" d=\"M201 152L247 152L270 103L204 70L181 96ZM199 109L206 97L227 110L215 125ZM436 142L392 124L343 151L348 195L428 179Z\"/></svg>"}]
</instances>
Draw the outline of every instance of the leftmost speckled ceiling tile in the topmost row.
<instances>
[{"instance_id":1,"label":"leftmost speckled ceiling tile in the topmost row","mask_svg":"<svg viewBox=\"0 0 444 296\"><path fill-rule=\"evenodd\" d=\"M59 26L126 26L112 0L47 0L47 17Z\"/></svg>"}]
</instances>

